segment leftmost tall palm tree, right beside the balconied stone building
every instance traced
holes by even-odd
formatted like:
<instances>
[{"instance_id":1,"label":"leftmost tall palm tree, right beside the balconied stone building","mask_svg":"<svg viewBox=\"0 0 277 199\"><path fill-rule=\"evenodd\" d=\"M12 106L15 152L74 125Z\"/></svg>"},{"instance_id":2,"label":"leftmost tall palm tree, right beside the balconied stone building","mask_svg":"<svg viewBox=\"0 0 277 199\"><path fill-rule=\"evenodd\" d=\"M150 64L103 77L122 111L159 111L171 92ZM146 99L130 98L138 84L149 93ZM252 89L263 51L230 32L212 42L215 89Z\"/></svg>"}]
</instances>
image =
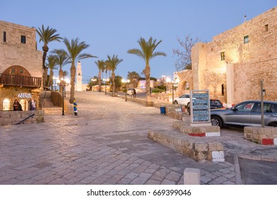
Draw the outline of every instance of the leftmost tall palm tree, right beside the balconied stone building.
<instances>
[{"instance_id":1,"label":"leftmost tall palm tree, right beside the balconied stone building","mask_svg":"<svg viewBox=\"0 0 277 199\"><path fill-rule=\"evenodd\" d=\"M46 80L47 80L47 70L48 68L45 67L45 60L46 60L46 55L48 53L48 43L51 41L59 41L62 39L60 37L60 34L56 34L57 30L54 28L50 28L49 26L45 29L44 26L38 29L36 29L36 32L38 33L38 36L40 37L40 41L43 41L43 87L46 85Z\"/></svg>"}]
</instances>

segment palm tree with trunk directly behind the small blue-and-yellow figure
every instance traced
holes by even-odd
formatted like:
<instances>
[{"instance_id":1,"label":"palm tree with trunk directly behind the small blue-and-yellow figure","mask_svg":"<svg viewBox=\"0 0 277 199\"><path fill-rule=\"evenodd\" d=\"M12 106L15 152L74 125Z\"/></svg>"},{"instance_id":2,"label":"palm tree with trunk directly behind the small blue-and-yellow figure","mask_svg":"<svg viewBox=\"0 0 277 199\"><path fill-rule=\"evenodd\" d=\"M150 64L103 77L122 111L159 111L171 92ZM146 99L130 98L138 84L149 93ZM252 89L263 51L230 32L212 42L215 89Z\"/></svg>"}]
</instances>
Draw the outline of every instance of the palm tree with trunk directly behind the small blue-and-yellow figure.
<instances>
[{"instance_id":1,"label":"palm tree with trunk directly behind the small blue-and-yellow figure","mask_svg":"<svg viewBox=\"0 0 277 199\"><path fill-rule=\"evenodd\" d=\"M84 41L79 42L79 38L72 39L71 42L64 38L63 42L67 48L65 51L68 61L71 63L70 67L70 103L73 103L75 95L75 76L76 76L76 67L75 62L85 59L85 58L97 58L93 55L82 53L83 50L89 47Z\"/></svg>"}]
</instances>

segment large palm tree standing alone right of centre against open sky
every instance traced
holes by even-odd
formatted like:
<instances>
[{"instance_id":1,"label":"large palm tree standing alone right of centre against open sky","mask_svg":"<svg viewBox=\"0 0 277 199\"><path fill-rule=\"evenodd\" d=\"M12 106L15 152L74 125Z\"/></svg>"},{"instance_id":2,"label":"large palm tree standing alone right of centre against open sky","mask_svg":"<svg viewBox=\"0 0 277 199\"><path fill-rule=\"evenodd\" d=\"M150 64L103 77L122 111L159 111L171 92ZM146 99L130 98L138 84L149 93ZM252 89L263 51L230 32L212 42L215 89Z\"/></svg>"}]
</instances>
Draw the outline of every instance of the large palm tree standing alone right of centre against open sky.
<instances>
[{"instance_id":1,"label":"large palm tree standing alone right of centre against open sky","mask_svg":"<svg viewBox=\"0 0 277 199\"><path fill-rule=\"evenodd\" d=\"M145 41L144 38L140 38L138 43L141 49L138 48L133 48L128 50L127 52L130 54L138 55L139 57L143 58L143 60L146 63L146 67L144 69L145 75L146 75L146 103L150 102L150 65L149 62L152 58L155 58L158 55L163 55L166 56L165 53L163 52L155 52L154 50L157 48L157 46L161 43L162 41L158 41L156 43L156 39L149 38L148 42Z\"/></svg>"}]
</instances>

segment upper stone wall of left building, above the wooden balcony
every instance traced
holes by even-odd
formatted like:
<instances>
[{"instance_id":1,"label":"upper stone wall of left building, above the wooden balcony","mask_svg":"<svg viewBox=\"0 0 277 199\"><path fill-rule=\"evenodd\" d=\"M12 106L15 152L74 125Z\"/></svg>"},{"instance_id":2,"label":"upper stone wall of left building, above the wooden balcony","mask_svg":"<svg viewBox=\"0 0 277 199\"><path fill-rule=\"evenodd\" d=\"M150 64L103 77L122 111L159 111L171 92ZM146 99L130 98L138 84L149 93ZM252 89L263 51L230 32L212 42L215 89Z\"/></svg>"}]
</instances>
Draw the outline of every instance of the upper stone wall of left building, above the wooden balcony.
<instances>
[{"instance_id":1,"label":"upper stone wall of left building, above the wooden balcony","mask_svg":"<svg viewBox=\"0 0 277 199\"><path fill-rule=\"evenodd\" d=\"M0 73L13 65L20 65L31 77L43 75L43 52L36 49L36 28L0 21L1 34L6 32L6 42L0 39ZM26 43L21 43L26 36Z\"/></svg>"}]
</instances>

